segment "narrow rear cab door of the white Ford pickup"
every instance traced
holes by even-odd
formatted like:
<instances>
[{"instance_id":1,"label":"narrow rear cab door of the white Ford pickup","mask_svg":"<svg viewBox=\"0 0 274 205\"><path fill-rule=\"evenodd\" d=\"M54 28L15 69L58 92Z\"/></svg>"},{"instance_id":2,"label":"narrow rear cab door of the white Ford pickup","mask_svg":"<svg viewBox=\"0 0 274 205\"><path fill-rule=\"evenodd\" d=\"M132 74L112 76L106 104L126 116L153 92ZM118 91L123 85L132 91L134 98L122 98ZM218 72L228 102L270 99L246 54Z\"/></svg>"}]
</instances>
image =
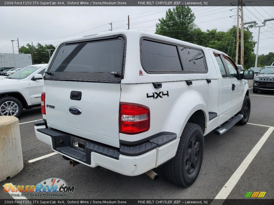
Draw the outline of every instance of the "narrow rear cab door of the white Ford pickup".
<instances>
[{"instance_id":1,"label":"narrow rear cab door of the white Ford pickup","mask_svg":"<svg viewBox=\"0 0 274 205\"><path fill-rule=\"evenodd\" d=\"M225 69L222 55L216 52L213 52L213 54L219 67L219 70L217 69L219 77L219 126L230 118L231 79Z\"/></svg>"}]
</instances>

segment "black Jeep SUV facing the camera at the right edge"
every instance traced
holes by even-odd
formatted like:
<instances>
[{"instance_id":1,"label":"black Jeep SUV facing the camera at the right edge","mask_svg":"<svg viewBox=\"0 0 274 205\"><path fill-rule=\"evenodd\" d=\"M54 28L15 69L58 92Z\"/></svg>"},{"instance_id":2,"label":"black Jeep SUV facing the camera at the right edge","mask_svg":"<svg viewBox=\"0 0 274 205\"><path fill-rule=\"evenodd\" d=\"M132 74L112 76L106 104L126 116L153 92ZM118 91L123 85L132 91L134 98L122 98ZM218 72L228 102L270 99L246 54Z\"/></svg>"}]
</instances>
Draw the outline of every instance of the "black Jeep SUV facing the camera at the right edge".
<instances>
[{"instance_id":1,"label":"black Jeep SUV facing the camera at the right edge","mask_svg":"<svg viewBox=\"0 0 274 205\"><path fill-rule=\"evenodd\" d=\"M265 66L253 81L253 93L274 91L274 66Z\"/></svg>"}]
</instances>

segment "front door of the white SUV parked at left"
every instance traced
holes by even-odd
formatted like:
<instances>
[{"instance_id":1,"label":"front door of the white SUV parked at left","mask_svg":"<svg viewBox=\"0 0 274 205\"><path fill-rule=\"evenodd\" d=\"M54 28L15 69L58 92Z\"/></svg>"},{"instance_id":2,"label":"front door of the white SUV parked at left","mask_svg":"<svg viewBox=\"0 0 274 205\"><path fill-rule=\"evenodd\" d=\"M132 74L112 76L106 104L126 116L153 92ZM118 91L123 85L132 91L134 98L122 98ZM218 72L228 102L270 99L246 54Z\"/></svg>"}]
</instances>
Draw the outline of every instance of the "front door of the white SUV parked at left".
<instances>
[{"instance_id":1,"label":"front door of the white SUV parked at left","mask_svg":"<svg viewBox=\"0 0 274 205\"><path fill-rule=\"evenodd\" d=\"M41 93L44 86L44 80L33 80L35 74L44 75L45 69L42 69L38 73L33 73L32 77L29 79L29 94L31 97L31 104L39 104L41 103Z\"/></svg>"}]
</instances>

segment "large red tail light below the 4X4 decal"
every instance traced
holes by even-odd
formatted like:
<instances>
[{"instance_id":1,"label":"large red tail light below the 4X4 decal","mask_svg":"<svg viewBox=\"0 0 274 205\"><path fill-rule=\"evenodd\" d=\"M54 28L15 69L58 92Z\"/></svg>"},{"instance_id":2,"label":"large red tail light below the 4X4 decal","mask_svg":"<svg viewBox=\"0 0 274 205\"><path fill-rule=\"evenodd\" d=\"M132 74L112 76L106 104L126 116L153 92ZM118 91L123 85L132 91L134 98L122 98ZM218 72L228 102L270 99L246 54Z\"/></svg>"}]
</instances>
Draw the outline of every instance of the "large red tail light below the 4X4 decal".
<instances>
[{"instance_id":1,"label":"large red tail light below the 4X4 decal","mask_svg":"<svg viewBox=\"0 0 274 205\"><path fill-rule=\"evenodd\" d=\"M120 133L138 134L149 130L149 108L133 103L120 103Z\"/></svg>"}]
</instances>

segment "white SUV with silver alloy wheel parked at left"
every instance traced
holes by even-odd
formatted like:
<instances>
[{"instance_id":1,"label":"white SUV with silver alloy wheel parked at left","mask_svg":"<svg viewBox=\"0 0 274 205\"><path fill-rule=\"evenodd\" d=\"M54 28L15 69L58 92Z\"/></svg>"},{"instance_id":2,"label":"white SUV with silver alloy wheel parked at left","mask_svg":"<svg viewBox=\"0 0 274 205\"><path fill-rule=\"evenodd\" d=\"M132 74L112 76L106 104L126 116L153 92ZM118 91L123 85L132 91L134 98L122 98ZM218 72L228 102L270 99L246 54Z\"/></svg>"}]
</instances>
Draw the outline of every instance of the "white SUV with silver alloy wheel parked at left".
<instances>
[{"instance_id":1,"label":"white SUV with silver alloy wheel parked at left","mask_svg":"<svg viewBox=\"0 0 274 205\"><path fill-rule=\"evenodd\" d=\"M29 65L0 79L0 116L19 117L23 108L41 105L46 66L47 64Z\"/></svg>"}]
</instances>

